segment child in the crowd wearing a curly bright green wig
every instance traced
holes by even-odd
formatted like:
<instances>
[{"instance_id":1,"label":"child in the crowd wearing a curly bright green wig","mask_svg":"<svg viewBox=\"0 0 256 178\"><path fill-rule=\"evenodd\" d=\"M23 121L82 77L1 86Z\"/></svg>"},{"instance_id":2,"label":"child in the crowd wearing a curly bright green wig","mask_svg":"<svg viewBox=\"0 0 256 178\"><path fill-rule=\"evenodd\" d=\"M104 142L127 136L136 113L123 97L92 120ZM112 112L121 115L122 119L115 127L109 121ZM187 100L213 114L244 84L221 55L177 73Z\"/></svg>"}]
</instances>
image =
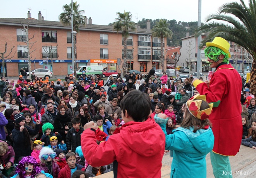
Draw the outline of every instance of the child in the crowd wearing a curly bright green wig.
<instances>
[{"instance_id":1,"label":"child in the crowd wearing a curly bright green wig","mask_svg":"<svg viewBox=\"0 0 256 178\"><path fill-rule=\"evenodd\" d=\"M41 137L41 141L45 142L44 146L50 145L50 137L52 136L56 136L58 140L62 140L61 134L58 132L53 132L53 130L54 126L49 122L42 125L43 135Z\"/></svg>"}]
</instances>

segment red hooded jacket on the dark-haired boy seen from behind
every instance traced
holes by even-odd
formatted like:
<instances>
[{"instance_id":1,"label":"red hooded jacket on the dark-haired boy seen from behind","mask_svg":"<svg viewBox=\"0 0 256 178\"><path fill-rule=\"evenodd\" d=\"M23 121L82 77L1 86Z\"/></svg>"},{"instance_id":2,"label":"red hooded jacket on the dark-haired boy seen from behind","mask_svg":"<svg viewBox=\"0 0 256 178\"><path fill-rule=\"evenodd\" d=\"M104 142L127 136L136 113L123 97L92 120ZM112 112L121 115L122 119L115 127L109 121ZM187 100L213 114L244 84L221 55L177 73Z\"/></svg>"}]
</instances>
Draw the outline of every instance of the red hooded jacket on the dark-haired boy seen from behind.
<instances>
[{"instance_id":1,"label":"red hooded jacket on the dark-haired boy seen from behind","mask_svg":"<svg viewBox=\"0 0 256 178\"><path fill-rule=\"evenodd\" d=\"M99 145L94 129L86 129L81 136L88 164L102 166L116 160L114 174L122 178L161 178L164 144L164 133L150 118L145 122L125 123L107 142Z\"/></svg>"}]
</instances>

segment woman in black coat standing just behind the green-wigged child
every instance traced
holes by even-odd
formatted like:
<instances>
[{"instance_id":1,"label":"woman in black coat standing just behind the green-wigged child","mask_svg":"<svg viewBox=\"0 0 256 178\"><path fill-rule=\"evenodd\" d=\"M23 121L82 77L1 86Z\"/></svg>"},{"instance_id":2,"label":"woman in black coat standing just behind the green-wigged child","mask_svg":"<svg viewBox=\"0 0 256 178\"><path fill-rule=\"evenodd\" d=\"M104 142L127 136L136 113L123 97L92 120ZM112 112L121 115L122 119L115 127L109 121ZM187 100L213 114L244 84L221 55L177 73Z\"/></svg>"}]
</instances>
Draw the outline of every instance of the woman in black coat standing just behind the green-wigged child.
<instances>
[{"instance_id":1,"label":"woman in black coat standing just behind the green-wigged child","mask_svg":"<svg viewBox=\"0 0 256 178\"><path fill-rule=\"evenodd\" d=\"M66 142L67 131L70 129L68 127L70 121L71 118L67 114L65 106L59 105L58 114L54 120L54 132L59 132L64 142Z\"/></svg>"}]
</instances>

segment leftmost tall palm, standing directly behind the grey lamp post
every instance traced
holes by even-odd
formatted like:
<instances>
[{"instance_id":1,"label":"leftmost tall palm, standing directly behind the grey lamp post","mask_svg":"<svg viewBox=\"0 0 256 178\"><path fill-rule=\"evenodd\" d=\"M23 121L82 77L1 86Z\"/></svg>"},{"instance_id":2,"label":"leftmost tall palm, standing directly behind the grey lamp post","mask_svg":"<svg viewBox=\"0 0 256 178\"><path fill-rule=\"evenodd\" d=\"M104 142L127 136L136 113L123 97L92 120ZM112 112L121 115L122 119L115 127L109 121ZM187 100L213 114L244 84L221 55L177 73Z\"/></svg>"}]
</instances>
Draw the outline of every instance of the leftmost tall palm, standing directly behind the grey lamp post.
<instances>
[{"instance_id":1,"label":"leftmost tall palm, standing directly behind the grey lamp post","mask_svg":"<svg viewBox=\"0 0 256 178\"><path fill-rule=\"evenodd\" d=\"M70 25L71 24L71 18L67 18L68 16L71 17L72 14L72 3L70 3L69 5L65 4L63 5L63 10L64 12L62 12L59 15L59 20L62 24L64 25ZM79 10L79 4L77 4L77 2L73 2L73 30L76 32L79 32L79 25L85 25L85 16L81 15L83 14L85 11L84 10ZM74 76L76 76L76 34L72 33L71 35L74 36Z\"/></svg>"}]
</instances>

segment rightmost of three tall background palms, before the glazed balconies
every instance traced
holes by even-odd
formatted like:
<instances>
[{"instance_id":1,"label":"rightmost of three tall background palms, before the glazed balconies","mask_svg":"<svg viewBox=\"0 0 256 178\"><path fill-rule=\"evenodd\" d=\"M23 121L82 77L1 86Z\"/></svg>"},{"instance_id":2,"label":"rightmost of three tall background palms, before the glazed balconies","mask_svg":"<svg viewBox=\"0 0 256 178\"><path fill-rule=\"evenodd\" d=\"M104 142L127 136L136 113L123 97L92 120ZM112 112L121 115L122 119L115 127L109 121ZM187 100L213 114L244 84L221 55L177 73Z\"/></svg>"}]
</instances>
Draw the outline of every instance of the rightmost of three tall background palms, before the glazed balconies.
<instances>
[{"instance_id":1,"label":"rightmost of three tall background palms, before the glazed balconies","mask_svg":"<svg viewBox=\"0 0 256 178\"><path fill-rule=\"evenodd\" d=\"M159 37L161 41L161 56L160 63L162 67L162 72L164 71L164 37L169 39L172 38L173 32L168 28L170 24L166 22L166 20L159 20L156 22L156 25L152 28L152 36Z\"/></svg>"}]
</instances>

